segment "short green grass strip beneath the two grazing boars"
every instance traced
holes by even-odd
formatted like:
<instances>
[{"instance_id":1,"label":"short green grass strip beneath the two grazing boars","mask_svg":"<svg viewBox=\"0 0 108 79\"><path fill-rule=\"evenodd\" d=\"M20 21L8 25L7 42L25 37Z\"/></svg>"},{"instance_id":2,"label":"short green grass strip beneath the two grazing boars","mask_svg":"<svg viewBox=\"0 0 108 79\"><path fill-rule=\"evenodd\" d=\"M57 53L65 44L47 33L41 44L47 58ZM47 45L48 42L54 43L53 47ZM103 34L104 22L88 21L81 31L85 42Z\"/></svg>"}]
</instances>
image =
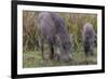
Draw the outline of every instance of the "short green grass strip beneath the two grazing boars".
<instances>
[{"instance_id":1,"label":"short green grass strip beneath the two grazing boars","mask_svg":"<svg viewBox=\"0 0 108 79\"><path fill-rule=\"evenodd\" d=\"M72 53L72 61L58 62L42 60L40 51L29 51L23 52L23 67L33 68L33 67L51 67L51 66L72 66L72 65L93 65L97 64L97 49L94 49L94 54L85 57L82 50L78 50Z\"/></svg>"}]
</instances>

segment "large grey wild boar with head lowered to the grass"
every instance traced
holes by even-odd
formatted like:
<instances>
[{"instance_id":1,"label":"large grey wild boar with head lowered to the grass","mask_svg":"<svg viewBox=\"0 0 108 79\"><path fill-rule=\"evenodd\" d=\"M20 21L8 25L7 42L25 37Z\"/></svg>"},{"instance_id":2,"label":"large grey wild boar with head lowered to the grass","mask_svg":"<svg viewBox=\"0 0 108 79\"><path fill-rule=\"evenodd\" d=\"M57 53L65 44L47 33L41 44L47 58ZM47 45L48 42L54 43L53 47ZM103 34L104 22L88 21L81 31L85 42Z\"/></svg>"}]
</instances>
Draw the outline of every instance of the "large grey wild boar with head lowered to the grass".
<instances>
[{"instance_id":1,"label":"large grey wild boar with head lowered to the grass","mask_svg":"<svg viewBox=\"0 0 108 79\"><path fill-rule=\"evenodd\" d=\"M71 42L65 21L57 13L40 12L38 16L38 29L42 57L44 58L44 39L50 49L50 58L59 61L71 60Z\"/></svg>"}]
</instances>

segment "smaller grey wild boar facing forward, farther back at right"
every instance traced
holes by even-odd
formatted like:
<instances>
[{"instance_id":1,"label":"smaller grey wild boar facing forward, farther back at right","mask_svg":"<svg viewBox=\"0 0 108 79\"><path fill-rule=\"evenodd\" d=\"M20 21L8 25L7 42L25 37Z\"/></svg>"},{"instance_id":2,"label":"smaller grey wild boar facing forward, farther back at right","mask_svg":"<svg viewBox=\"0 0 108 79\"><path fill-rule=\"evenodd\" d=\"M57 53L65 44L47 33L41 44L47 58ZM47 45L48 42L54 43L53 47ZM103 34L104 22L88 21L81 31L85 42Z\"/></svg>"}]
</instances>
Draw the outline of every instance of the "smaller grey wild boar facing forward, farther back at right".
<instances>
[{"instance_id":1,"label":"smaller grey wild boar facing forward, farther back at right","mask_svg":"<svg viewBox=\"0 0 108 79\"><path fill-rule=\"evenodd\" d=\"M83 27L82 41L85 55L93 54L95 31L90 23L86 23Z\"/></svg>"}]
</instances>

